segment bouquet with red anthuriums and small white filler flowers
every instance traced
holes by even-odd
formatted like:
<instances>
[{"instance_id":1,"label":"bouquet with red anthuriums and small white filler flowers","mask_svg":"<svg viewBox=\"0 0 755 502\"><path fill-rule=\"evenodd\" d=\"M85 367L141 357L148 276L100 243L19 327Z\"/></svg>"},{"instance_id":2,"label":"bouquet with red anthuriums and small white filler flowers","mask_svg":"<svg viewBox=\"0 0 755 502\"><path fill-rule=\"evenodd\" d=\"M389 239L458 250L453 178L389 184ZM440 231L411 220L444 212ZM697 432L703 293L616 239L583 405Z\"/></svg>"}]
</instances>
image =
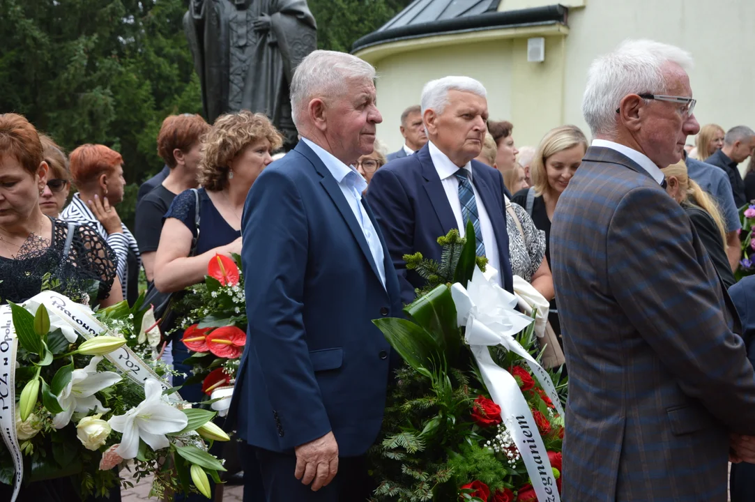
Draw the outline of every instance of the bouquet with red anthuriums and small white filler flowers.
<instances>
[{"instance_id":1,"label":"bouquet with red anthuriums and small white filler flowers","mask_svg":"<svg viewBox=\"0 0 755 502\"><path fill-rule=\"evenodd\" d=\"M233 395L239 359L246 344L246 303L241 257L216 254L207 266L205 282L194 285L176 306L184 316L183 337L192 356L193 374L186 384L202 382L213 409L224 416Z\"/></svg>"}]
</instances>

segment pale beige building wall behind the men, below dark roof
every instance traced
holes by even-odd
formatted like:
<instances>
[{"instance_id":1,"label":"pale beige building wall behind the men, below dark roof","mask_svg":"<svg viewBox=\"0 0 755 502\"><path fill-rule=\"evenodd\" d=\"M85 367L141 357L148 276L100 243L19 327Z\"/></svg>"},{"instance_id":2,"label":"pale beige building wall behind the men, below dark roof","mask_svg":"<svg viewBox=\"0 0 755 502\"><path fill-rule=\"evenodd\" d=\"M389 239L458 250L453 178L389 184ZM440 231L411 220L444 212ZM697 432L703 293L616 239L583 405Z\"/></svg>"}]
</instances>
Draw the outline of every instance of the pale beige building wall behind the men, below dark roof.
<instances>
[{"instance_id":1,"label":"pale beige building wall behind the men, below dark roof","mask_svg":"<svg viewBox=\"0 0 755 502\"><path fill-rule=\"evenodd\" d=\"M400 42L400 47L394 43L359 51L357 55L377 66L381 74L377 83L378 107L384 118L378 128L381 139L391 151L399 148L402 110L419 102L424 82L444 75L479 79L488 89L491 118L513 122L520 146L535 145L548 129L564 123L579 125L589 134L581 113L587 69L595 57L625 38L652 38L692 53L695 69L690 77L701 125L755 127L755 64L749 57L755 48L755 0L561 3L570 7L568 29L440 35ZM551 4L548 0L504 0L499 10ZM545 36L544 63L527 62L530 36ZM474 42L479 37L487 39Z\"/></svg>"}]
</instances>

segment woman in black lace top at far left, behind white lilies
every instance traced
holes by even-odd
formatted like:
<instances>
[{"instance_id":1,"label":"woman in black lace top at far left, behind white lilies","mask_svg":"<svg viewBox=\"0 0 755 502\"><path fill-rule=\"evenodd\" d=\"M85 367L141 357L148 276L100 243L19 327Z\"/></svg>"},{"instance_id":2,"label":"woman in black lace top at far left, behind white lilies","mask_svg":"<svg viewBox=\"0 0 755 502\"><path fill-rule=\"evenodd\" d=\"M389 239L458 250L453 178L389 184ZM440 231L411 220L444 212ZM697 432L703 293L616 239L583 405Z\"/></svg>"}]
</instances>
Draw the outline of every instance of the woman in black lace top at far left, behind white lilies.
<instances>
[{"instance_id":1,"label":"woman in black lace top at far left, behind white lilies","mask_svg":"<svg viewBox=\"0 0 755 502\"><path fill-rule=\"evenodd\" d=\"M0 303L21 303L42 291L45 282L82 302L118 303L123 297L116 257L106 242L88 226L42 213L39 197L48 171L34 126L21 115L0 115ZM0 457L9 458L3 442ZM50 479L23 485L17 500L80 500L80 476L45 475ZM0 482L0 500L11 500L12 493L10 485ZM109 500L120 500L119 486Z\"/></svg>"}]
</instances>

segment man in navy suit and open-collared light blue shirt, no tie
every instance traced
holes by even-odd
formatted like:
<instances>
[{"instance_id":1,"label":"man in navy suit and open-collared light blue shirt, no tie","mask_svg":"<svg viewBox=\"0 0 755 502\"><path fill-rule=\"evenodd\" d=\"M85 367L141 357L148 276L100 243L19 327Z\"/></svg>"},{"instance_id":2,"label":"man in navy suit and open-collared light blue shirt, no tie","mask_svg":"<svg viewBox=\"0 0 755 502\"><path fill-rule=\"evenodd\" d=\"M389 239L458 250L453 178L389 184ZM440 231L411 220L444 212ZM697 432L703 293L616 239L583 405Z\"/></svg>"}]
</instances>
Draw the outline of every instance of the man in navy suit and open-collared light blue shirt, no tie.
<instances>
[{"instance_id":1,"label":"man in navy suit and open-collared light blue shirt, no tie","mask_svg":"<svg viewBox=\"0 0 755 502\"><path fill-rule=\"evenodd\" d=\"M380 432L392 359L371 321L402 315L353 168L382 121L374 78L350 54L304 58L291 82L302 139L260 174L244 208L249 324L230 416L259 459L267 502L370 495L364 454Z\"/></svg>"}]
</instances>

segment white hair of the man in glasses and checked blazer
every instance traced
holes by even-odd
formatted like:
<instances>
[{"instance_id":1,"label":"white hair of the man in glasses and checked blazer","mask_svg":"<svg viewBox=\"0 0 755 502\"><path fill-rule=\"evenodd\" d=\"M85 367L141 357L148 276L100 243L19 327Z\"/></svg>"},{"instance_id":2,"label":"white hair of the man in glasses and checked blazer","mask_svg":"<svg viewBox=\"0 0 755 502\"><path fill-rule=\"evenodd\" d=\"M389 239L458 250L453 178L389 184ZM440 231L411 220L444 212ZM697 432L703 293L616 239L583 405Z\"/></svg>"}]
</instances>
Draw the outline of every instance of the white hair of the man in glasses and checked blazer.
<instances>
[{"instance_id":1,"label":"white hair of the man in glasses and checked blazer","mask_svg":"<svg viewBox=\"0 0 755 502\"><path fill-rule=\"evenodd\" d=\"M665 63L676 63L689 72L692 56L673 45L626 40L593 61L582 98L582 115L593 136L615 132L616 109L627 94L667 92Z\"/></svg>"}]
</instances>

